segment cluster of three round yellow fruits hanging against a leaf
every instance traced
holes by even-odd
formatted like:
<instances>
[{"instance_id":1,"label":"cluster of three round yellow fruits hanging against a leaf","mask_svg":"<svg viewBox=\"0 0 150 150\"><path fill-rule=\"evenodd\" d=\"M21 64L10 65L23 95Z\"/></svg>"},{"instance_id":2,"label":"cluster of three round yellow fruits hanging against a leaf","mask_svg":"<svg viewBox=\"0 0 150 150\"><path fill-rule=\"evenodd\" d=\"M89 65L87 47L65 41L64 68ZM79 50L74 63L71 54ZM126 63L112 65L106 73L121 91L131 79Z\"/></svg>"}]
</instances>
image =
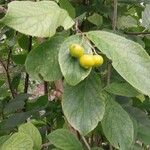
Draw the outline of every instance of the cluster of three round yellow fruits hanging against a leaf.
<instances>
[{"instance_id":1,"label":"cluster of three round yellow fruits hanging against a leaf","mask_svg":"<svg viewBox=\"0 0 150 150\"><path fill-rule=\"evenodd\" d=\"M78 58L80 65L89 69L91 67L98 67L103 64L103 57L100 55L85 54L84 48L79 44L72 44L69 47L70 55Z\"/></svg>"}]
</instances>

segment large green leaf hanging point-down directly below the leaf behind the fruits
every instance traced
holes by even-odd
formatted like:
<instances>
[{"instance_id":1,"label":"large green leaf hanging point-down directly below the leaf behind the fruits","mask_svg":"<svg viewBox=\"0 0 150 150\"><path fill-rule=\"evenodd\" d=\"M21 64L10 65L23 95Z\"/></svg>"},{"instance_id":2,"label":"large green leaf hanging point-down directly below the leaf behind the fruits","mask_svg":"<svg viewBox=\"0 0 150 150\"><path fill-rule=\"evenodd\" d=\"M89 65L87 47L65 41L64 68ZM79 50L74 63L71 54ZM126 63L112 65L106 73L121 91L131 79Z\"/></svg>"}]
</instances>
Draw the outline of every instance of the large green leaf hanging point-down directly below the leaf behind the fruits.
<instances>
[{"instance_id":1,"label":"large green leaf hanging point-down directly below the leaf behind the fruits","mask_svg":"<svg viewBox=\"0 0 150 150\"><path fill-rule=\"evenodd\" d=\"M92 131L102 120L105 111L101 82L90 75L76 86L65 84L62 108L68 122L81 134Z\"/></svg>"}]
</instances>

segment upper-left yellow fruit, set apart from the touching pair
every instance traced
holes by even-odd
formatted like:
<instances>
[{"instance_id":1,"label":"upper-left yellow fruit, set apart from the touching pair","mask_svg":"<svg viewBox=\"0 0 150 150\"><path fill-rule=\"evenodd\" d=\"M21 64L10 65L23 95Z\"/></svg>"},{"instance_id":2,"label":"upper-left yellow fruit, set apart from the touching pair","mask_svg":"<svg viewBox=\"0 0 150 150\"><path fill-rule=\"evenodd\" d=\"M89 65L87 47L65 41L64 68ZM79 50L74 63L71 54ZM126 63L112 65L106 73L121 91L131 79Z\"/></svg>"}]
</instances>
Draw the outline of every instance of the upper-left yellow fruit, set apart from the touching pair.
<instances>
[{"instance_id":1,"label":"upper-left yellow fruit, set apart from the touching pair","mask_svg":"<svg viewBox=\"0 0 150 150\"><path fill-rule=\"evenodd\" d=\"M79 44L72 44L69 47L70 55L75 58L80 58L84 54L84 49Z\"/></svg>"}]
</instances>

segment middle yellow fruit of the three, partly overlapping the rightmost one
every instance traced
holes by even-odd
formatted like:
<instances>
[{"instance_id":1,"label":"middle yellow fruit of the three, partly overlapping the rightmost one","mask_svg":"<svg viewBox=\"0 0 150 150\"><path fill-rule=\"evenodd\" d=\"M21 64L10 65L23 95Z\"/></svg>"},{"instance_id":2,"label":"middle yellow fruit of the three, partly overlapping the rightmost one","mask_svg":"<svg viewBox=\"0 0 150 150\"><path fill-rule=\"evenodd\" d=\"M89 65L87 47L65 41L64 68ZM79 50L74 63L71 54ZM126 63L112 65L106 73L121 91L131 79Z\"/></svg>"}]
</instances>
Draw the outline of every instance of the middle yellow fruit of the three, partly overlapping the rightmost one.
<instances>
[{"instance_id":1,"label":"middle yellow fruit of the three, partly overlapping the rightmost one","mask_svg":"<svg viewBox=\"0 0 150 150\"><path fill-rule=\"evenodd\" d=\"M89 69L90 67L94 65L93 55L85 54L80 57L79 62L83 68Z\"/></svg>"}]
</instances>

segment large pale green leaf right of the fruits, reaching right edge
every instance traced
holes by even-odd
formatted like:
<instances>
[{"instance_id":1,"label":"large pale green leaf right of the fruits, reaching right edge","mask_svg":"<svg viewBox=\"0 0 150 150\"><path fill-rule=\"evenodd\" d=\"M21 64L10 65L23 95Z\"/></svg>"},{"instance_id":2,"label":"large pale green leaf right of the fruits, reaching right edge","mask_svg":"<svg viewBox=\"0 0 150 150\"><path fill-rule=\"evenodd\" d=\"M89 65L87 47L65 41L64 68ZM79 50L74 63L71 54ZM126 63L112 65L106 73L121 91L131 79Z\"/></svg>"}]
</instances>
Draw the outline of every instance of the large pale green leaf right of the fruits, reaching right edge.
<instances>
[{"instance_id":1,"label":"large pale green leaf right of the fruits, reaching right edge","mask_svg":"<svg viewBox=\"0 0 150 150\"><path fill-rule=\"evenodd\" d=\"M105 31L91 31L87 36L126 81L150 95L150 57L141 45Z\"/></svg>"}]
</instances>

